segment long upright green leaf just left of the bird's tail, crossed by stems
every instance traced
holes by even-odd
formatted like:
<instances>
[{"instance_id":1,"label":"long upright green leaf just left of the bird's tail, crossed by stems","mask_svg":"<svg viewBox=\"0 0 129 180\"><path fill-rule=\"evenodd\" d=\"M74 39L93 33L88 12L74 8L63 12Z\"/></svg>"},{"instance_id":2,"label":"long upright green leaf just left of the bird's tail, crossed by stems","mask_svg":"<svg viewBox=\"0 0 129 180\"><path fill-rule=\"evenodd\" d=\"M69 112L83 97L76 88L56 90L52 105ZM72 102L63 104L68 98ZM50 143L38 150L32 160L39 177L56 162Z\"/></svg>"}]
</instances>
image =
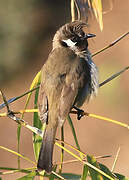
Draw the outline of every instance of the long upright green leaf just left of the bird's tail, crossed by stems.
<instances>
[{"instance_id":1,"label":"long upright green leaf just left of the bird's tail, crossed by stems","mask_svg":"<svg viewBox=\"0 0 129 180\"><path fill-rule=\"evenodd\" d=\"M35 92L35 100L34 100L34 108L35 109L38 108L38 105L37 105L38 94L39 94L39 89L37 89ZM34 113L33 126L39 128L39 129L42 128L42 123L39 119L37 112ZM38 157L39 157L39 151L40 151L41 143L42 143L42 138L39 135L33 133L33 147L34 147L34 153L35 153L36 161L38 160Z\"/></svg>"}]
</instances>

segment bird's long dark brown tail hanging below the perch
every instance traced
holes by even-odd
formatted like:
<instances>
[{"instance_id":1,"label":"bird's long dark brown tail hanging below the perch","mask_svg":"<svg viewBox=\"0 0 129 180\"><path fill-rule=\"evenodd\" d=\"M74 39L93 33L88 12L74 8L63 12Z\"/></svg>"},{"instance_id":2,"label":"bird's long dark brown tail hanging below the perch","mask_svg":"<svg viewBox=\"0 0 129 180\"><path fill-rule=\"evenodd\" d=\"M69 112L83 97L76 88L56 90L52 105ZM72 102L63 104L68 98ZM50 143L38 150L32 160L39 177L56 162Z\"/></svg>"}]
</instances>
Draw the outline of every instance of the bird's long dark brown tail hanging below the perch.
<instances>
[{"instance_id":1,"label":"bird's long dark brown tail hanging below the perch","mask_svg":"<svg viewBox=\"0 0 129 180\"><path fill-rule=\"evenodd\" d=\"M40 171L45 170L47 173L52 171L52 156L55 133L56 127L49 129L46 127L37 164L37 168Z\"/></svg>"}]
</instances>

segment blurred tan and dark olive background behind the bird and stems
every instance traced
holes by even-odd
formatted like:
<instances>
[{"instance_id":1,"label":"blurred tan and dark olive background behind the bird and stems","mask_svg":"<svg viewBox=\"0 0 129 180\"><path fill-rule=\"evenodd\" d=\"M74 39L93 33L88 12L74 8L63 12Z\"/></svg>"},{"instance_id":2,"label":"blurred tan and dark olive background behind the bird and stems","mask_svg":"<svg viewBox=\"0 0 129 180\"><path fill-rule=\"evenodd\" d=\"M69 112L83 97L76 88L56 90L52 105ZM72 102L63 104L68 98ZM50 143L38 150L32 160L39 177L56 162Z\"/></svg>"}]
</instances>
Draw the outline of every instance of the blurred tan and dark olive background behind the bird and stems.
<instances>
[{"instance_id":1,"label":"blurred tan and dark olive background behind the bird and stems","mask_svg":"<svg viewBox=\"0 0 129 180\"><path fill-rule=\"evenodd\" d=\"M96 19L89 16L88 32L96 34L89 40L92 53L111 43L129 31L129 1L102 1L104 29L101 32ZM69 0L0 0L0 89L7 99L27 91L37 72L51 51L56 30L71 21ZM105 52L96 55L94 61L100 72L100 82L129 65L129 37ZM10 108L24 108L26 97L12 103ZM0 97L0 103L2 98ZM29 104L33 108L33 97ZM127 123L129 121L129 72L101 87L98 96L83 109ZM6 109L0 110L5 112ZM72 116L81 150L94 156L112 155L100 159L110 169L120 147L115 172L129 177L129 130L109 122L84 117L80 121ZM24 120L32 124L33 115ZM58 130L57 137L60 137ZM65 141L75 145L69 124L65 123ZM17 124L8 118L0 118L0 145L17 151ZM59 149L55 148L54 161L60 161ZM34 159L32 133L22 128L20 153ZM65 153L65 160L72 157ZM16 167L17 157L0 149L0 167ZM21 168L32 167L21 160ZM80 163L64 165L63 172L82 173ZM16 179L23 174L5 175L2 178Z\"/></svg>"}]
</instances>

